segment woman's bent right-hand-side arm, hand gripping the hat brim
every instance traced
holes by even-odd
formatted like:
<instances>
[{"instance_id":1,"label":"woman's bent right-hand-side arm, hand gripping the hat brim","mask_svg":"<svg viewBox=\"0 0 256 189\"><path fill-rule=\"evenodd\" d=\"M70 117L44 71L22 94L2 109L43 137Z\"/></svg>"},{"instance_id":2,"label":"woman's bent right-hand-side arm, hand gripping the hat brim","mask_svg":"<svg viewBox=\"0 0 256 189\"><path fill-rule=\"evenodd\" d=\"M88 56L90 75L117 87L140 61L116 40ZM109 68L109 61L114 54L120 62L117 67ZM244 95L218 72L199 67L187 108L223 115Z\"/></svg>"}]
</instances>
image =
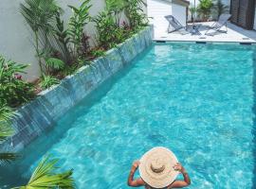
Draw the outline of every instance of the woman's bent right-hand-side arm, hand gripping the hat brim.
<instances>
[{"instance_id":1,"label":"woman's bent right-hand-side arm, hand gripping the hat brim","mask_svg":"<svg viewBox=\"0 0 256 189\"><path fill-rule=\"evenodd\" d=\"M191 184L191 179L190 179L188 172L185 170L185 168L180 163L177 163L174 166L174 169L180 171L180 173L183 175L184 180L175 180L170 186L168 186L168 189L169 188L183 188L183 187L186 187Z\"/></svg>"}]
</instances>

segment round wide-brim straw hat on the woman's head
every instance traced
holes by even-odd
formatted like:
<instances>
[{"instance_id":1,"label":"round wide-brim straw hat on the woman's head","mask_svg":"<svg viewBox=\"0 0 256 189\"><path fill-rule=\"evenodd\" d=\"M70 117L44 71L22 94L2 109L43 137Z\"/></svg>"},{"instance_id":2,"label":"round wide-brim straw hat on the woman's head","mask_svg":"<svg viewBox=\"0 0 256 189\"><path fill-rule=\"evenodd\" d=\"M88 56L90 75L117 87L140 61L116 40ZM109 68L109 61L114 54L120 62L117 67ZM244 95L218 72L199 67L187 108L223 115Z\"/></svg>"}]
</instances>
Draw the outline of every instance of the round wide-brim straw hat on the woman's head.
<instances>
[{"instance_id":1,"label":"round wide-brim straw hat on the woman's head","mask_svg":"<svg viewBox=\"0 0 256 189\"><path fill-rule=\"evenodd\" d=\"M169 186L179 173L174 170L178 160L166 147L152 148L141 157L139 162L138 170L141 179L154 188Z\"/></svg>"}]
</instances>

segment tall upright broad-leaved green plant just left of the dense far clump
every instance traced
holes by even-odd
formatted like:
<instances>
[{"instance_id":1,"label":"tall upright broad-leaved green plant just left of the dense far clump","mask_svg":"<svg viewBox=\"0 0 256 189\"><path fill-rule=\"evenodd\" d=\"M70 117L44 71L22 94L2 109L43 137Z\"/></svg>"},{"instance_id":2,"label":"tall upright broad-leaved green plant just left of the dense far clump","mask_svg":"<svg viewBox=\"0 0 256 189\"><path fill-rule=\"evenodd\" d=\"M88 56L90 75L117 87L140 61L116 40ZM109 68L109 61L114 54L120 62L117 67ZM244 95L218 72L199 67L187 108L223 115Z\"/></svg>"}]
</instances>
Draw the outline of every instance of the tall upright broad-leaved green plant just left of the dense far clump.
<instances>
[{"instance_id":1,"label":"tall upright broad-leaved green plant just left of the dense far clump","mask_svg":"<svg viewBox=\"0 0 256 189\"><path fill-rule=\"evenodd\" d=\"M69 19L68 23L68 36L70 38L70 43L73 44L73 56L78 57L82 54L82 36L83 28L89 22L89 5L90 0L85 0L82 2L80 8L75 8L73 6L68 6L73 11L73 16Z\"/></svg>"}]
</instances>

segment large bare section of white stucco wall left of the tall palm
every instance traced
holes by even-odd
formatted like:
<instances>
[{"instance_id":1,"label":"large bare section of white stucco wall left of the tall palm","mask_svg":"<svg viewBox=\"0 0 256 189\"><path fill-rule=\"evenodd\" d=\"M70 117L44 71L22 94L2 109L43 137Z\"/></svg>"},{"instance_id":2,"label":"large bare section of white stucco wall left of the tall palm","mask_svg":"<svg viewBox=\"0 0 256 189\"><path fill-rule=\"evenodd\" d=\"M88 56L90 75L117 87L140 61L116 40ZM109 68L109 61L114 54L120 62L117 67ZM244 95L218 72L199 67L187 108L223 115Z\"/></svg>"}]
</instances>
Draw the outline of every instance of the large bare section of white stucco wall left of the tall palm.
<instances>
[{"instance_id":1,"label":"large bare section of white stucco wall left of the tall palm","mask_svg":"<svg viewBox=\"0 0 256 189\"><path fill-rule=\"evenodd\" d=\"M29 63L27 72L38 75L32 33L19 12L19 0L0 1L0 54L14 61Z\"/></svg>"}]
</instances>

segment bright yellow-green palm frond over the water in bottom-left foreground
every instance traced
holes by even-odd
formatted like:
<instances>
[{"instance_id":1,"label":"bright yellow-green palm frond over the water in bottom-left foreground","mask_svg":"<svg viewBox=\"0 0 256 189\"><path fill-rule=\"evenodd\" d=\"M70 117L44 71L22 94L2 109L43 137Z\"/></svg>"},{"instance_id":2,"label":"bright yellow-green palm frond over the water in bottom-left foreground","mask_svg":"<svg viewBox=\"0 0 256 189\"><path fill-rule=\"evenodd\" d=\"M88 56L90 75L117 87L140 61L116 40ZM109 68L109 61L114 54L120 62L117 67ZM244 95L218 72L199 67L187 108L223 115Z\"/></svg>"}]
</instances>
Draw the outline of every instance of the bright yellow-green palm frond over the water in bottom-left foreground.
<instances>
[{"instance_id":1,"label":"bright yellow-green palm frond over the water in bottom-left foreground","mask_svg":"<svg viewBox=\"0 0 256 189\"><path fill-rule=\"evenodd\" d=\"M50 160L48 156L43 158L34 170L26 186L15 187L15 189L39 189L39 188L75 188L72 178L73 170L57 173L57 159Z\"/></svg>"}]
</instances>

